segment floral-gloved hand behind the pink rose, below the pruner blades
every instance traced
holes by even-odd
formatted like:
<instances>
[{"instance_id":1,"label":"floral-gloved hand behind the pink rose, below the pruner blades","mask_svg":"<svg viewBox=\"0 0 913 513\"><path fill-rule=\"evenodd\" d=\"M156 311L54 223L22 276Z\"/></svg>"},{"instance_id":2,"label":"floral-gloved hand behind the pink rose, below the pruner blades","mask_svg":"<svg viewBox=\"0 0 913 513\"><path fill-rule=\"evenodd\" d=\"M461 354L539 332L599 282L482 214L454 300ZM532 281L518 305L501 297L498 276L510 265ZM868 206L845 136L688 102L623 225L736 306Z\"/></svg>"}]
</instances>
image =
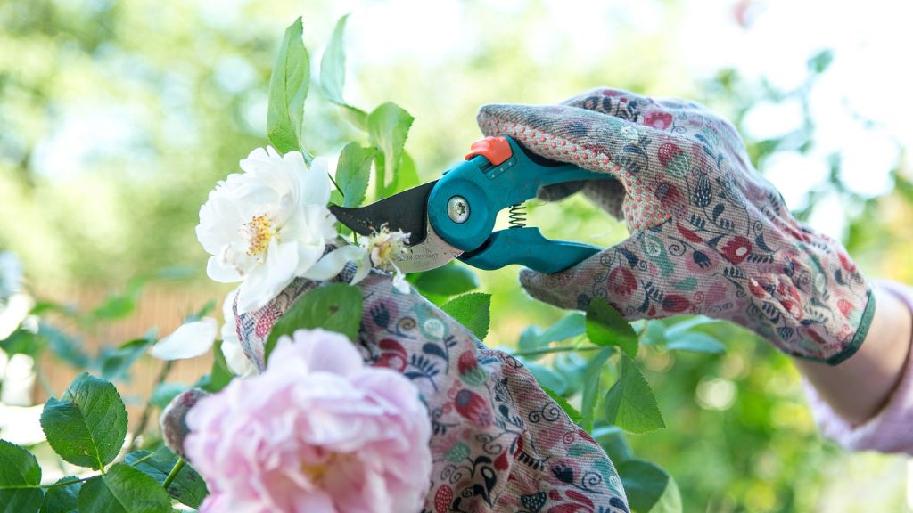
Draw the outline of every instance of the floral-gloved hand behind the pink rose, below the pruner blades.
<instances>
[{"instance_id":1,"label":"floral-gloved hand behind the pink rose, below the pruner blades","mask_svg":"<svg viewBox=\"0 0 913 513\"><path fill-rule=\"evenodd\" d=\"M352 273L350 266L334 281ZM241 345L260 371L273 324L320 286L299 278L263 309L239 316ZM428 407L434 468L425 512L628 511L603 449L519 361L488 350L415 290L396 291L390 277L374 273L358 288L364 360L403 372Z\"/></svg>"}]
</instances>

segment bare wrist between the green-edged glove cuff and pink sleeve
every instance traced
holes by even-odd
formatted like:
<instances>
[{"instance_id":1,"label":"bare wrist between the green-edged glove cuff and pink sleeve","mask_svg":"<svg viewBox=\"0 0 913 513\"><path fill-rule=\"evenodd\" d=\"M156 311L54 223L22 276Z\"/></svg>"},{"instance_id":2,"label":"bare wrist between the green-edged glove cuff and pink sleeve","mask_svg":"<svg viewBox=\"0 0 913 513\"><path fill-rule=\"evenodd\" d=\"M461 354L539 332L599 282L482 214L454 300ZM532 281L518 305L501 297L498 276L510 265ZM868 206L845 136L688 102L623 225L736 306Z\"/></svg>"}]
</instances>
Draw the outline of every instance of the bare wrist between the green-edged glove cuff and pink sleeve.
<instances>
[{"instance_id":1,"label":"bare wrist between the green-edged glove cuff and pink sleeve","mask_svg":"<svg viewBox=\"0 0 913 513\"><path fill-rule=\"evenodd\" d=\"M862 424L885 405L897 386L913 339L913 316L900 298L875 288L876 309L866 340L836 366L796 360L796 365L834 413Z\"/></svg>"}]
</instances>

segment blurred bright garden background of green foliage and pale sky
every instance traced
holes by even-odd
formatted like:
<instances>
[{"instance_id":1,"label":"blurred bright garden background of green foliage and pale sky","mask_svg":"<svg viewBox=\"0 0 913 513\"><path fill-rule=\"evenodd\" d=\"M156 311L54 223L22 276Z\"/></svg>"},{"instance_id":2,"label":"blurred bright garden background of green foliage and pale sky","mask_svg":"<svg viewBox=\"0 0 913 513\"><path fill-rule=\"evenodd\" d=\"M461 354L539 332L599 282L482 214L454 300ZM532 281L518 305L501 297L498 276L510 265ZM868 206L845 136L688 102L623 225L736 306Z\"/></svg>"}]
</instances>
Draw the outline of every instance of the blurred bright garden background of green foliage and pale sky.
<instances>
[{"instance_id":1,"label":"blurred bright garden background of green foliage and pale sky","mask_svg":"<svg viewBox=\"0 0 913 513\"><path fill-rule=\"evenodd\" d=\"M549 103L603 85L697 99L736 123L793 212L842 239L866 276L913 283L907 3L4 0L0 251L21 261L35 298L111 321L70 327L85 351L167 333L225 296L205 277L199 206L266 144L285 26L304 16L316 69L346 13L346 99L365 110L393 100L415 116L406 149L423 180L477 139L483 103ZM305 116L314 154L332 157L357 133L313 87ZM602 246L625 236L575 199L533 205L530 220ZM561 317L523 295L515 268L482 280L491 346ZM685 511L913 508L908 458L824 441L790 362L742 330L719 336L724 355L645 357L668 428L629 437L675 476ZM174 376L194 382L209 366L183 362ZM158 367L137 371L127 389L148 393ZM14 412L73 376L26 354L0 353L0 372L5 438L34 436ZM25 379L12 386L16 373Z\"/></svg>"}]
</instances>

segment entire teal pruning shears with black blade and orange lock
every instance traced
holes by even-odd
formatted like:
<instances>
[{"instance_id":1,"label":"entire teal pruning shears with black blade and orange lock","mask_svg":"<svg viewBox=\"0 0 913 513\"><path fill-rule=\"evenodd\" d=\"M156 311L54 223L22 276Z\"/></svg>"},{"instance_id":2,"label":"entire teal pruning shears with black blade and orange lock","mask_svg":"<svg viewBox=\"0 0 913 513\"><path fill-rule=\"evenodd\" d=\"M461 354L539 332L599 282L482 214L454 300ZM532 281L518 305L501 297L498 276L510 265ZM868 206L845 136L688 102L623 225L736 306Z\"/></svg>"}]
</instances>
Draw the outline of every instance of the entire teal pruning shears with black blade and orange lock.
<instances>
[{"instance_id":1,"label":"entire teal pruning shears with black blade and orange lock","mask_svg":"<svg viewBox=\"0 0 913 513\"><path fill-rule=\"evenodd\" d=\"M331 205L333 215L357 234L369 236L386 225L409 233L404 272L441 267L459 258L472 267L498 269L520 264L556 273L592 257L599 247L550 240L526 226L524 202L540 187L584 180L612 180L572 164L554 162L509 137L472 144L460 162L430 183L361 208ZM501 210L510 209L510 227L493 231Z\"/></svg>"}]
</instances>

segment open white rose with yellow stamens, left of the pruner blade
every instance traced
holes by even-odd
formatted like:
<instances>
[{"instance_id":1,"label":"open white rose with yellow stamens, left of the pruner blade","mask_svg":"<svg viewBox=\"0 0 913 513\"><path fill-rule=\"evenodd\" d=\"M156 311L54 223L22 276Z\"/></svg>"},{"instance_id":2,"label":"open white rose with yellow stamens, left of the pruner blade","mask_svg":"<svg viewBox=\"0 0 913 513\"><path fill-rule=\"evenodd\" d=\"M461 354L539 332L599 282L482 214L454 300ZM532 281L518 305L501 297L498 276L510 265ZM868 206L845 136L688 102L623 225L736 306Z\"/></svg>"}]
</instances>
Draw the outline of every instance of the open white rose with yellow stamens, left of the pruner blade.
<instances>
[{"instance_id":1,"label":"open white rose with yellow stamens, left of the pruner blade","mask_svg":"<svg viewBox=\"0 0 913 513\"><path fill-rule=\"evenodd\" d=\"M196 226L212 255L206 274L222 283L242 282L239 314L264 307L295 277L327 279L351 259L343 258L345 251L320 258L337 236L336 218L326 206L325 159L314 159L309 169L299 152L280 156L271 147L257 148L240 166L245 173L228 175L209 194Z\"/></svg>"}]
</instances>

